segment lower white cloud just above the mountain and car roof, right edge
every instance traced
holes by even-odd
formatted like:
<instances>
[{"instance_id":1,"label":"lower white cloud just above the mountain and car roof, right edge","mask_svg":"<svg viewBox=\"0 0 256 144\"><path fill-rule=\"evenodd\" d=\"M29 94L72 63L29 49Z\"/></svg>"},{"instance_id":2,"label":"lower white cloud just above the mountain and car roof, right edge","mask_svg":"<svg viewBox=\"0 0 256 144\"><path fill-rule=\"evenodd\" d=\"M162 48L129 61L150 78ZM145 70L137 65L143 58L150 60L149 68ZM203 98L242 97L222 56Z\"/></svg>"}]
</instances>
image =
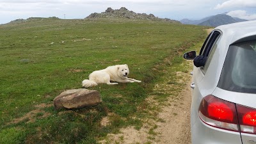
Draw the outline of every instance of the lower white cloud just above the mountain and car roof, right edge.
<instances>
[{"instance_id":1,"label":"lower white cloud just above the mountain and car roof, right edge","mask_svg":"<svg viewBox=\"0 0 256 144\"><path fill-rule=\"evenodd\" d=\"M245 10L234 10L231 12L228 12L227 15L230 15L231 17L238 17L240 19L246 19L246 20L256 20L256 14L249 14Z\"/></svg>"}]
</instances>

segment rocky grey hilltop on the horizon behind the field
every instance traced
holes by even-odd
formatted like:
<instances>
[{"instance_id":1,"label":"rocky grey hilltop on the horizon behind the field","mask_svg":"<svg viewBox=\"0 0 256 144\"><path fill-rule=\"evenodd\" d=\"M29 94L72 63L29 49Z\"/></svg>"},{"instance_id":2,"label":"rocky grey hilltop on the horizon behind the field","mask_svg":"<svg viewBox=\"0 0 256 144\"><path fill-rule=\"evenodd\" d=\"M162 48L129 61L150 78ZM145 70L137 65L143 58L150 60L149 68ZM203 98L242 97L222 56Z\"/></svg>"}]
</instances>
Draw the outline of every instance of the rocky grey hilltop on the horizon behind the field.
<instances>
[{"instance_id":1,"label":"rocky grey hilltop on the horizon behind the field","mask_svg":"<svg viewBox=\"0 0 256 144\"><path fill-rule=\"evenodd\" d=\"M122 7L119 10L113 10L112 8L108 8L105 12L102 12L102 13L92 13L85 19L95 19L95 18L141 19L141 20L154 20L154 21L180 23L177 20L161 19L159 17L155 17L153 14L147 15L146 13L135 13L135 12L127 10L127 8L125 8L125 7Z\"/></svg>"}]
</instances>

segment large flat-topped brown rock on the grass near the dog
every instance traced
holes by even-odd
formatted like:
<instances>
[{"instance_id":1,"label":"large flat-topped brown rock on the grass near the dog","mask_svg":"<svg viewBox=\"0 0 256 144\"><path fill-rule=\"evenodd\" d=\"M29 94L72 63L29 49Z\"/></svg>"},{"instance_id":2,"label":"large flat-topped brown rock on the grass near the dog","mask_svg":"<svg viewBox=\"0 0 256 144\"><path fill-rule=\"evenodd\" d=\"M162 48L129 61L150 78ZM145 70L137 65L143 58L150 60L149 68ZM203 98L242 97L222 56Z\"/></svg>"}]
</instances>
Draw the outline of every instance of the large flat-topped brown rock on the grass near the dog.
<instances>
[{"instance_id":1,"label":"large flat-topped brown rock on the grass near the dog","mask_svg":"<svg viewBox=\"0 0 256 144\"><path fill-rule=\"evenodd\" d=\"M87 90L84 88L67 90L55 97L54 108L83 108L86 106L96 106L102 102L100 93L97 90Z\"/></svg>"}]
</instances>

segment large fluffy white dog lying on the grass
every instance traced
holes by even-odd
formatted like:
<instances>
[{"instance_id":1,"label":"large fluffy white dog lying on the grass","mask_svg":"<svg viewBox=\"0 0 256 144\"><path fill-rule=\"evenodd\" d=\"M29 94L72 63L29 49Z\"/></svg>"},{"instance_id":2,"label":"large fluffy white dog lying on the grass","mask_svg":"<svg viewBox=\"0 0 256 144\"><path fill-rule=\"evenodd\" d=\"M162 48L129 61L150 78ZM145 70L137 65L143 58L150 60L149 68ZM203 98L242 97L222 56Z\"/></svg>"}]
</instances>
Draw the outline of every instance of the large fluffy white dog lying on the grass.
<instances>
[{"instance_id":1,"label":"large fluffy white dog lying on the grass","mask_svg":"<svg viewBox=\"0 0 256 144\"><path fill-rule=\"evenodd\" d=\"M103 70L95 70L89 75L89 79L84 79L82 84L84 88L91 86L97 86L99 83L106 84L118 84L111 83L110 81L115 81L119 83L141 83L136 79L128 78L129 68L128 65L113 65L109 66Z\"/></svg>"}]
</instances>

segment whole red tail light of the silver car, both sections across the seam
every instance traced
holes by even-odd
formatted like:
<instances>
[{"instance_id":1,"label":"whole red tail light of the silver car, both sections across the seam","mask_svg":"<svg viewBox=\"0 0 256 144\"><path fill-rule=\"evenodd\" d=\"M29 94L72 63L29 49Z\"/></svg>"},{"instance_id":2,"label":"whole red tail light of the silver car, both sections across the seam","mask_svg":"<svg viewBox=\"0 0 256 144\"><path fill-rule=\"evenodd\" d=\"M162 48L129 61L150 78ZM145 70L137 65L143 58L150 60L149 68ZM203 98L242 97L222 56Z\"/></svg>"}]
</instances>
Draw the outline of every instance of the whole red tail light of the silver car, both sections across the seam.
<instances>
[{"instance_id":1,"label":"whole red tail light of the silver car, both sections across the seam","mask_svg":"<svg viewBox=\"0 0 256 144\"><path fill-rule=\"evenodd\" d=\"M256 134L256 109L207 95L199 108L200 119L208 125L230 131Z\"/></svg>"}]
</instances>

